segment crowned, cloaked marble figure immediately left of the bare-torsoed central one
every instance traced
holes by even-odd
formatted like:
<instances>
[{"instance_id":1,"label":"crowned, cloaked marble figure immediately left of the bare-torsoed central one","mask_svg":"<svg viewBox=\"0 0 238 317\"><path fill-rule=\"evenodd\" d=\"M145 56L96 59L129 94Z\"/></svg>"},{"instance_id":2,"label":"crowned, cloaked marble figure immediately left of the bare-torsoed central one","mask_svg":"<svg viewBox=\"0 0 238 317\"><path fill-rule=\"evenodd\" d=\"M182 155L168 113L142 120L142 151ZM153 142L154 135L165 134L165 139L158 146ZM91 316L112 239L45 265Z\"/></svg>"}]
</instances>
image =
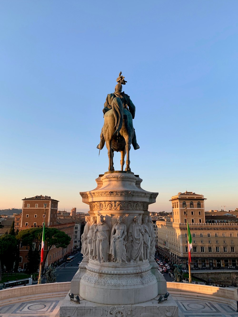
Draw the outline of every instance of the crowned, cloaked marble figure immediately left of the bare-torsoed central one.
<instances>
[{"instance_id":1,"label":"crowned, cloaked marble figure immediately left of the bare-torsoed central one","mask_svg":"<svg viewBox=\"0 0 238 317\"><path fill-rule=\"evenodd\" d=\"M108 262L109 227L102 215L100 216L99 224L94 231L94 241L93 256L95 256L99 263Z\"/></svg>"}]
</instances>

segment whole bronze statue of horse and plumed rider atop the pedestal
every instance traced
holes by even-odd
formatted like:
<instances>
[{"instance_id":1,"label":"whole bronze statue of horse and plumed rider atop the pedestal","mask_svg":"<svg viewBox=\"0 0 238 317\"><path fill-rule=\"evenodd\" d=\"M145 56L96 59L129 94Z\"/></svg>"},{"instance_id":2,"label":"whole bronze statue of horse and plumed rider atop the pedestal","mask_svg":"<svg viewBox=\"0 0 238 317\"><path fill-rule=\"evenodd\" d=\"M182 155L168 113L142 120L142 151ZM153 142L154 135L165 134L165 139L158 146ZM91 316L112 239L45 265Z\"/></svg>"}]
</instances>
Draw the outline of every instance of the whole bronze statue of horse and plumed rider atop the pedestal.
<instances>
[{"instance_id":1,"label":"whole bronze statue of horse and plumed rider atop the pedestal","mask_svg":"<svg viewBox=\"0 0 238 317\"><path fill-rule=\"evenodd\" d=\"M100 135L100 143L97 148L100 153L100 150L106 143L109 171L114 171L113 156L115 151L121 152L121 171L123 171L125 155L125 171L131 171L129 159L130 145L132 144L135 150L140 148L136 142L136 133L132 122L135 117L136 107L130 100L130 97L125 94L124 91L122 92L122 85L125 85L127 82L124 78L122 72L120 72L119 77L116 79L117 85L115 92L107 95L102 110L104 125Z\"/></svg>"}]
</instances>

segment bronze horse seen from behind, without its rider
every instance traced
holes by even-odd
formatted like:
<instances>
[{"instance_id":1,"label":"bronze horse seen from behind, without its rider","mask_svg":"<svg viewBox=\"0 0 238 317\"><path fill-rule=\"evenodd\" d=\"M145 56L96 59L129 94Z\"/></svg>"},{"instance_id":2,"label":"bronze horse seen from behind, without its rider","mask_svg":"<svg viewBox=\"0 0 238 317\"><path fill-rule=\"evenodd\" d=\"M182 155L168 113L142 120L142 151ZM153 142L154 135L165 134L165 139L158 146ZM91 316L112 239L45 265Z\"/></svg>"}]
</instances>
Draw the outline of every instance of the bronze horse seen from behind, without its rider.
<instances>
[{"instance_id":1,"label":"bronze horse seen from behind, without its rider","mask_svg":"<svg viewBox=\"0 0 238 317\"><path fill-rule=\"evenodd\" d=\"M130 145L132 143L134 128L132 115L127 108L123 107L120 98L112 100L111 109L104 114L104 125L102 128L106 147L108 149L109 171L114 171L114 152L121 152L121 171L123 171L124 158L126 154L125 171L130 170Z\"/></svg>"}]
</instances>

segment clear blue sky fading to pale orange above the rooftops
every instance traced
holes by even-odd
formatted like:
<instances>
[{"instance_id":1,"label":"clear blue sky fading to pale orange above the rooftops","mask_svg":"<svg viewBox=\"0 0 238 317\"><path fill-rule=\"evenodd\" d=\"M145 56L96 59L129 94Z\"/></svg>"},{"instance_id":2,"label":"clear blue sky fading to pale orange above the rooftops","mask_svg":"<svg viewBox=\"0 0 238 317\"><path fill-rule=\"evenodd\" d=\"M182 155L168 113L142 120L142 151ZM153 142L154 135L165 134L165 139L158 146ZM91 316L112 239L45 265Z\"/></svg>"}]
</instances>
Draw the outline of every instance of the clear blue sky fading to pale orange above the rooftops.
<instances>
[{"instance_id":1,"label":"clear blue sky fading to pale orange above the rooftops","mask_svg":"<svg viewBox=\"0 0 238 317\"><path fill-rule=\"evenodd\" d=\"M108 170L96 149L120 71L136 106L131 170L159 192L238 207L237 1L2 1L0 209L80 191ZM120 169L120 154L114 155Z\"/></svg>"}]
</instances>

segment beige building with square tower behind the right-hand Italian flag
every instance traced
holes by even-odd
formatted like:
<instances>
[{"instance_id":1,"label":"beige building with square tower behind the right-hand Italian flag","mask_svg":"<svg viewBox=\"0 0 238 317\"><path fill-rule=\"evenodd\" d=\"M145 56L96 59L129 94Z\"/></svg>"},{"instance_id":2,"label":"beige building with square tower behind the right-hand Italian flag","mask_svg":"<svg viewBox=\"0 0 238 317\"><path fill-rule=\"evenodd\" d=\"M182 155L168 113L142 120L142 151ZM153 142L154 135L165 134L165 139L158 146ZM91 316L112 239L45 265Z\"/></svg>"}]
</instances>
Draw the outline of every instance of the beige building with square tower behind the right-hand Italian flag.
<instances>
[{"instance_id":1,"label":"beige building with square tower behind the right-hand Italian flag","mask_svg":"<svg viewBox=\"0 0 238 317\"><path fill-rule=\"evenodd\" d=\"M156 221L158 251L176 264L188 264L188 220L191 236L191 267L238 265L238 225L235 217L206 219L203 195L186 191L171 197L173 221ZM187 207L187 218L186 208ZM218 219L216 219L218 218ZM237 219L238 220L238 219Z\"/></svg>"}]
</instances>

